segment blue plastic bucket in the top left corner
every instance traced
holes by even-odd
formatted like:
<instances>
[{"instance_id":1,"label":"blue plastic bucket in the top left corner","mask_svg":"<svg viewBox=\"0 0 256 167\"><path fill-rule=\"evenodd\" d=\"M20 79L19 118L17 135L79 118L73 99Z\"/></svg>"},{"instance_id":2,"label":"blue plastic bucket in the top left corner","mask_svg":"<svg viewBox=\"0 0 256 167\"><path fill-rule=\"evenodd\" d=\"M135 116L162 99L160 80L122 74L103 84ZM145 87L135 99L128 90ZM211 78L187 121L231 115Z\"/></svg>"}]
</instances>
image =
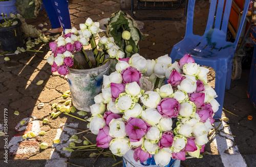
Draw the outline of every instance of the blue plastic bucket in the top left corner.
<instances>
[{"instance_id":1,"label":"blue plastic bucket in the top left corner","mask_svg":"<svg viewBox=\"0 0 256 167\"><path fill-rule=\"evenodd\" d=\"M18 13L17 8L15 6L15 3L17 0L12 0L12 1L1 1L0 2L0 11L1 13L7 14L9 17L9 13L11 12L12 14ZM2 16L2 14L0 15Z\"/></svg>"}]
</instances>

